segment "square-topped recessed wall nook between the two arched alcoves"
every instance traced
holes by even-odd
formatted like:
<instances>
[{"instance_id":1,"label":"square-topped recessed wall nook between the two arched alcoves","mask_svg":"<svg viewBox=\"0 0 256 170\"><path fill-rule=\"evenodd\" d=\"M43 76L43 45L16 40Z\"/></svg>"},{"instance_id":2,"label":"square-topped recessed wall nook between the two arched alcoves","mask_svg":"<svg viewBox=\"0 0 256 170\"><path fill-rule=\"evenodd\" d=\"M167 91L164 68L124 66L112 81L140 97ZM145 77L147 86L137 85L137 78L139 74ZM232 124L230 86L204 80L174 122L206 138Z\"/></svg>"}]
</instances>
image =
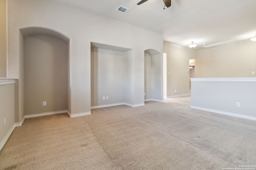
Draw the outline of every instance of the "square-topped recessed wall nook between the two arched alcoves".
<instances>
[{"instance_id":1,"label":"square-topped recessed wall nook between the two arched alcoves","mask_svg":"<svg viewBox=\"0 0 256 170\"><path fill-rule=\"evenodd\" d=\"M135 107L132 62L132 49L91 43L91 109L122 104Z\"/></svg>"}]
</instances>

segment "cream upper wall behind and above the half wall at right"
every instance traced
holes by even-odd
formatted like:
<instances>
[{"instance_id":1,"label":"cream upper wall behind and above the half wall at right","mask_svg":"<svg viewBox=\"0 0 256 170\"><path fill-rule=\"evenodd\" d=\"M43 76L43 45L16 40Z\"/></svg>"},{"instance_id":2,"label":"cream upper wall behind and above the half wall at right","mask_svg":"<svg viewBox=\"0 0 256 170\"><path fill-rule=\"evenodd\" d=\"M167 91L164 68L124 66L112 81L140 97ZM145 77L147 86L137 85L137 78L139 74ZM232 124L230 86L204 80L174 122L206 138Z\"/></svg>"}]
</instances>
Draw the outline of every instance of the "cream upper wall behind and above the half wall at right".
<instances>
[{"instance_id":1,"label":"cream upper wall behind and above the half wall at right","mask_svg":"<svg viewBox=\"0 0 256 170\"><path fill-rule=\"evenodd\" d=\"M256 73L254 41L241 41L196 51L195 77L255 77L256 74L252 74L252 71Z\"/></svg>"}]
</instances>

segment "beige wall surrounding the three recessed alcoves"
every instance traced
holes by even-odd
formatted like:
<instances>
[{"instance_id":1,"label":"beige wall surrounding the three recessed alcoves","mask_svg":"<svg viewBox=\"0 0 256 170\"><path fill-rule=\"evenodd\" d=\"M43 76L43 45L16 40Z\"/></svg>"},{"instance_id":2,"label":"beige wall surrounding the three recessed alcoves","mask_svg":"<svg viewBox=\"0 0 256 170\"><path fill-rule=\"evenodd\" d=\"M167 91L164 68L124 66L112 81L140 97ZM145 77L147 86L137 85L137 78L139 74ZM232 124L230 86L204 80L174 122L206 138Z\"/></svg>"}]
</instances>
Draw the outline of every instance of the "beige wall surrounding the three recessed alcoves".
<instances>
[{"instance_id":1,"label":"beige wall surrounding the three recessed alcoves","mask_svg":"<svg viewBox=\"0 0 256 170\"><path fill-rule=\"evenodd\" d=\"M155 49L162 53L161 34L52 0L9 0L9 10L12 11L8 12L9 77L21 78L22 54L19 50L18 30L34 26L46 27L70 37L68 100L71 114L90 112L91 42L133 49L126 52L132 54L129 58L129 68L132 69L129 86L132 90L129 89L131 97L128 100L133 105L144 103L144 51Z\"/></svg>"}]
</instances>

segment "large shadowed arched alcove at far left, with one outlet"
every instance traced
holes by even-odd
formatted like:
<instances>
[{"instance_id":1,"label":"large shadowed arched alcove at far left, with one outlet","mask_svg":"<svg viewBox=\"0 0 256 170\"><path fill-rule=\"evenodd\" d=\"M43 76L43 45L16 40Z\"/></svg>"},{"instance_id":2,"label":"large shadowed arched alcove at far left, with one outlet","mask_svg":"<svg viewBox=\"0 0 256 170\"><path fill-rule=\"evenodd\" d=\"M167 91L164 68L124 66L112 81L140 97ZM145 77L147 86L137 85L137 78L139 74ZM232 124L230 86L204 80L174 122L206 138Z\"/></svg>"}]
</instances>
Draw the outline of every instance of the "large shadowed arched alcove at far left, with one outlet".
<instances>
[{"instance_id":1,"label":"large shadowed arched alcove at far left, with one outlet","mask_svg":"<svg viewBox=\"0 0 256 170\"><path fill-rule=\"evenodd\" d=\"M20 76L16 89L19 106L16 108L24 111L25 117L69 110L69 39L53 29L20 29Z\"/></svg>"}]
</instances>

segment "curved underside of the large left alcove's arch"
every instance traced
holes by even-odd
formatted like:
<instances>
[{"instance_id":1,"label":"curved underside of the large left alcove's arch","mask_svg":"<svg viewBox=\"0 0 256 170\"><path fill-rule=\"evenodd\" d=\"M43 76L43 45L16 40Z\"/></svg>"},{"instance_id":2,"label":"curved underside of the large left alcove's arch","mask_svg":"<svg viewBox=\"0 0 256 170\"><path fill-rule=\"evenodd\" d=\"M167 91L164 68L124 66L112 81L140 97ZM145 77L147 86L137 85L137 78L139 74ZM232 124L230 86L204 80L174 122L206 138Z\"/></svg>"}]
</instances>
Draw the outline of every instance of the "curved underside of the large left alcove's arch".
<instances>
[{"instance_id":1,"label":"curved underside of the large left alcove's arch","mask_svg":"<svg viewBox=\"0 0 256 170\"><path fill-rule=\"evenodd\" d=\"M24 37L33 35L48 35L58 38L66 43L68 43L68 41L70 40L70 37L61 33L60 31L45 27L25 27L21 28L20 31Z\"/></svg>"}]
</instances>

